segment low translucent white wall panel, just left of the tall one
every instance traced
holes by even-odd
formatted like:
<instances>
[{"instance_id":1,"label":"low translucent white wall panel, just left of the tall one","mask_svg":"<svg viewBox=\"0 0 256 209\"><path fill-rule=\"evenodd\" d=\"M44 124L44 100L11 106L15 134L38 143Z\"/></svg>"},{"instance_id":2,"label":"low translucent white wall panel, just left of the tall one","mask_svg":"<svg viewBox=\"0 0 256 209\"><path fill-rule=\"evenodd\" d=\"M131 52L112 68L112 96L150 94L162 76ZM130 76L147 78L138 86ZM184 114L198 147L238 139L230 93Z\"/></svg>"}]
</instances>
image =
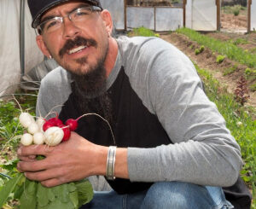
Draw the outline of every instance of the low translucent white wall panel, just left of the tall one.
<instances>
[{"instance_id":1,"label":"low translucent white wall panel, just left of the tall one","mask_svg":"<svg viewBox=\"0 0 256 209\"><path fill-rule=\"evenodd\" d=\"M155 31L175 31L183 27L182 8L156 8L155 9Z\"/></svg>"}]
</instances>

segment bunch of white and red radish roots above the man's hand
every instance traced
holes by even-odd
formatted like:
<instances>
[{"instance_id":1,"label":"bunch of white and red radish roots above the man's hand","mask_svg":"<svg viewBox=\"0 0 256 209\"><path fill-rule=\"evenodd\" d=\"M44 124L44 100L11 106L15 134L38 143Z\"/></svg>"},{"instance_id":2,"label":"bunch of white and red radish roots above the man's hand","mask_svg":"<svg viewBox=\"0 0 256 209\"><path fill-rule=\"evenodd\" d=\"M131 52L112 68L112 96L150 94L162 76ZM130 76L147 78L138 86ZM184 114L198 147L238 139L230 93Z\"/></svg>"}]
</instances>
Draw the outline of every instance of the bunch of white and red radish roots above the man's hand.
<instances>
[{"instance_id":1,"label":"bunch of white and red radish roots above the man's hand","mask_svg":"<svg viewBox=\"0 0 256 209\"><path fill-rule=\"evenodd\" d=\"M78 119L67 119L64 125L61 119L58 119L57 113L55 118L48 120L42 117L35 120L30 113L20 113L19 120L27 130L27 133L20 138L20 142L24 146L29 146L32 143L55 146L60 142L67 141L71 131L75 131L78 127Z\"/></svg>"}]
</instances>

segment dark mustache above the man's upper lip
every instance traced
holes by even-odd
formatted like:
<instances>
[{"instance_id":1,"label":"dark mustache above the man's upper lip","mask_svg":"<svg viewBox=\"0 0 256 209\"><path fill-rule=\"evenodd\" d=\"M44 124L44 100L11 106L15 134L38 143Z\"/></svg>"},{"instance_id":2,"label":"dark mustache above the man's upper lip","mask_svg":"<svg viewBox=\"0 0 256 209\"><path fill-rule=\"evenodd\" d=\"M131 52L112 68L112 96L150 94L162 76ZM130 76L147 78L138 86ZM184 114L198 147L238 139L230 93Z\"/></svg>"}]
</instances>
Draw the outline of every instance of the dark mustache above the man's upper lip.
<instances>
[{"instance_id":1,"label":"dark mustache above the man's upper lip","mask_svg":"<svg viewBox=\"0 0 256 209\"><path fill-rule=\"evenodd\" d=\"M74 47L78 47L81 45L94 46L97 47L97 43L95 39L92 38L83 38L76 37L74 39L68 39L64 46L59 51L59 55L62 58L68 50L73 49Z\"/></svg>"}]
</instances>

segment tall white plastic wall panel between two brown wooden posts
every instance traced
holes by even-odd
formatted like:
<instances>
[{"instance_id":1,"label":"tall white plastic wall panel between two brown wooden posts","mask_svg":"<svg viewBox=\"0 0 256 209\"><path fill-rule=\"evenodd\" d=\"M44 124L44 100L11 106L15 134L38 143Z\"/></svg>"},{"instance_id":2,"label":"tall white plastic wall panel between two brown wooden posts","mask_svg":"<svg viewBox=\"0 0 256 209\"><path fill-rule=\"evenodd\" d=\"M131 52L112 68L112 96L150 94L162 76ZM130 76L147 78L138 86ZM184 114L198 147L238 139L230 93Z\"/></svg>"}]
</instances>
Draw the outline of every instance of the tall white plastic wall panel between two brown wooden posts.
<instances>
[{"instance_id":1,"label":"tall white plastic wall panel between two brown wooden posts","mask_svg":"<svg viewBox=\"0 0 256 209\"><path fill-rule=\"evenodd\" d=\"M186 26L195 31L217 30L216 0L188 0Z\"/></svg>"}]
</instances>

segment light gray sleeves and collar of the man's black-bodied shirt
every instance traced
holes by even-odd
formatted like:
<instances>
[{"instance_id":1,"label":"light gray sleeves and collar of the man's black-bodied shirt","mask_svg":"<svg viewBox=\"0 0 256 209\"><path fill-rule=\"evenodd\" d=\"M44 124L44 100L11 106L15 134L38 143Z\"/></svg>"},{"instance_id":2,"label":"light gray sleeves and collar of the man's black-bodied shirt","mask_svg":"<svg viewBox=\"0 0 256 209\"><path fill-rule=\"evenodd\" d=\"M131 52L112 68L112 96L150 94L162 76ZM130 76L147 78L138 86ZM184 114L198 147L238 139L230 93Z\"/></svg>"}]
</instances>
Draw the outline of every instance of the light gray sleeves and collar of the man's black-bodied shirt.
<instances>
[{"instance_id":1,"label":"light gray sleeves and collar of the man's black-bodied shirt","mask_svg":"<svg viewBox=\"0 0 256 209\"><path fill-rule=\"evenodd\" d=\"M122 37L117 42L119 54L108 88L124 67L131 88L172 138L172 143L156 148L128 148L130 180L223 187L235 183L241 169L240 148L202 90L189 58L160 38ZM63 104L70 93L68 73L56 68L42 81L38 114L44 116Z\"/></svg>"}]
</instances>

